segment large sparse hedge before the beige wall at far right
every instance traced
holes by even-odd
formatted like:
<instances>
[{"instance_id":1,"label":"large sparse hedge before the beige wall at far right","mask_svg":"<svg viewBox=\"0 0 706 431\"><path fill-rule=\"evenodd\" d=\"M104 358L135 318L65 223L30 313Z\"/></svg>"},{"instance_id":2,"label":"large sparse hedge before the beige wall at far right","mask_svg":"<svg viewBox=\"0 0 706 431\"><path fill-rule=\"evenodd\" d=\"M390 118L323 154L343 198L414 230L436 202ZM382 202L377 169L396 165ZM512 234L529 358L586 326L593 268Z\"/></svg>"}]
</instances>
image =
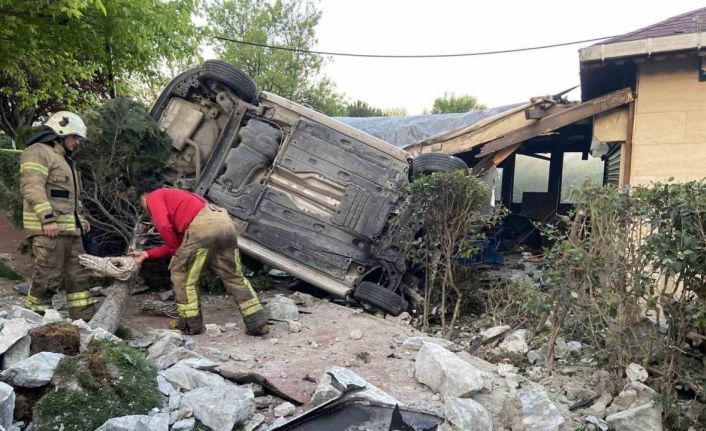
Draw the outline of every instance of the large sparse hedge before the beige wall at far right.
<instances>
[{"instance_id":1,"label":"large sparse hedge before the beige wall at far right","mask_svg":"<svg viewBox=\"0 0 706 431\"><path fill-rule=\"evenodd\" d=\"M650 365L667 415L677 383L706 399L706 382L688 377L683 354L687 334L706 330L706 184L586 185L564 222L568 232L545 229L555 241L545 270L550 349L564 332L590 343L615 370ZM665 336L646 316L667 324ZM547 357L551 366L551 350Z\"/></svg>"}]
</instances>

